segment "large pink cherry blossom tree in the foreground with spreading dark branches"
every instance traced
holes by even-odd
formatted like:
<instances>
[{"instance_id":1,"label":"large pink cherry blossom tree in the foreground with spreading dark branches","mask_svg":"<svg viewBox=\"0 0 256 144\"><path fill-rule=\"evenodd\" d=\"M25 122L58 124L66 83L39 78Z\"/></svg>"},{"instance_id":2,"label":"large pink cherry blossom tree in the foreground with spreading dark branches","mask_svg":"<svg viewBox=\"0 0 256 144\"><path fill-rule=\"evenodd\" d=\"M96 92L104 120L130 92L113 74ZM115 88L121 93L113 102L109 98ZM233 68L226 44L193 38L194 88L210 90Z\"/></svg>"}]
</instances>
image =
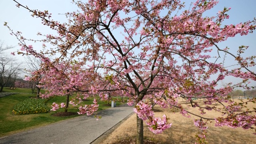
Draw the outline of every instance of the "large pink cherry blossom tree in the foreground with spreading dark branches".
<instances>
[{"instance_id":1,"label":"large pink cherry blossom tree in the foreground with spreading dark branches","mask_svg":"<svg viewBox=\"0 0 256 144\"><path fill-rule=\"evenodd\" d=\"M47 10L31 10L17 2L18 7L26 8L57 32L57 35L38 32L45 37L43 40L24 38L21 32L14 32L5 24L20 41L18 54L40 58L44 62L41 72L58 77L52 77L54 84L48 88L57 89L55 86L61 84L56 92L79 91L102 99L106 98L106 91L127 96L128 105L134 105L137 114L137 144L143 143L143 121L155 134L171 127L166 115L154 116L152 101L162 108L179 108L186 117L197 116L194 124L201 129L197 135L200 143L206 140L209 120L215 121L216 126L256 130L256 110L241 111L256 99L237 103L228 96L237 87L250 89L246 84L256 80L251 70L255 56L243 56L248 46L240 46L236 54L228 47L219 46L230 37L253 32L255 19L223 25L229 18L230 8L224 8L216 16L204 16L204 12L218 3L216 0L197 0L188 10L178 0L88 0L86 3L74 0L73 3L78 11L66 13L68 22L61 23L51 20ZM43 44L44 50L36 52L27 41L48 43L55 48ZM50 60L49 56L55 58ZM225 66L227 56L233 58L236 67ZM66 74L69 68L70 74ZM219 82L227 76L242 81L219 88ZM90 83L86 78L90 78ZM178 104L179 97L186 99L190 107L198 108L201 115ZM203 106L196 102L197 98L205 99ZM75 100L70 104L76 105ZM91 106L79 107L79 114L92 114L97 106L94 100ZM54 103L53 110L57 108L59 105ZM222 117L203 115L210 110L220 112Z\"/></svg>"}]
</instances>

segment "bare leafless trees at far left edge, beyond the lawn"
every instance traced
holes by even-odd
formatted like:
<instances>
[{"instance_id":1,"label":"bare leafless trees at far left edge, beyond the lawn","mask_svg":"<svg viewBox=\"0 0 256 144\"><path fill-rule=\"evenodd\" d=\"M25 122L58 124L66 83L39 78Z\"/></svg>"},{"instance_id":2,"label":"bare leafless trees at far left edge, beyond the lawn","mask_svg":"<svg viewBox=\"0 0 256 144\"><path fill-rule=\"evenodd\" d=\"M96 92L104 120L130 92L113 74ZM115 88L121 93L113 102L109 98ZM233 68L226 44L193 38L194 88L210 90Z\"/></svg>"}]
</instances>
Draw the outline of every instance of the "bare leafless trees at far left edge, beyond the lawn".
<instances>
[{"instance_id":1,"label":"bare leafless trees at far left edge, beyond the lawn","mask_svg":"<svg viewBox=\"0 0 256 144\"><path fill-rule=\"evenodd\" d=\"M30 76L31 72L37 70L38 66L40 66L40 60L28 56L26 58L26 67L28 69L24 70L21 62L18 62L14 56L5 52L12 48L13 46L4 45L4 42L0 40L0 92L3 91L4 87L9 87L10 89L31 88L32 93L37 89L39 94L40 89L37 87L39 80L25 81L24 74Z\"/></svg>"}]
</instances>

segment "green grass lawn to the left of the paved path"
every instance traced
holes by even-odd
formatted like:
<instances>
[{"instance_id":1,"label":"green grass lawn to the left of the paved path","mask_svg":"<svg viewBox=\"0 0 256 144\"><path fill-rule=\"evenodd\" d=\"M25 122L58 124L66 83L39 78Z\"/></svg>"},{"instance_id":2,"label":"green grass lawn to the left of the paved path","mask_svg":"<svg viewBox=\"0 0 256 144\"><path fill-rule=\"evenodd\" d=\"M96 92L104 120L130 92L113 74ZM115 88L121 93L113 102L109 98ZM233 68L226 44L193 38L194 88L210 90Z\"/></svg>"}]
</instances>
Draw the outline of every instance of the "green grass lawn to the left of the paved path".
<instances>
[{"instance_id":1,"label":"green grass lawn to the left of the paved path","mask_svg":"<svg viewBox=\"0 0 256 144\"><path fill-rule=\"evenodd\" d=\"M28 92L28 89L19 89L17 88L18 92ZM65 117L57 117L52 116L57 112L64 112L64 109L59 109L57 111L50 111L48 113L41 113L41 114L24 114L24 115L14 115L12 114L12 108L20 101L25 100L26 98L36 97L35 94L13 94L10 96L5 96L0 98L0 137L6 136L9 134L15 134L17 132L21 132L23 130L28 130L31 128L35 128L38 126L43 126L46 124L50 124L53 122L58 122L61 120L66 120L69 118L74 118L76 116L80 116L78 114L72 116L65 116ZM72 98L72 97L71 97ZM70 99L71 99L70 98ZM54 98L50 98L46 105L48 106L49 110L52 108L51 105L53 102L60 104L61 102L65 103L66 96L56 96ZM82 102L82 104L92 104L93 98L89 98L88 100ZM99 101L98 104L99 110L104 110L106 108L110 108L106 102ZM116 105L120 105L121 102L117 102ZM78 109L73 108L72 105L69 106L68 112L78 112Z\"/></svg>"}]
</instances>

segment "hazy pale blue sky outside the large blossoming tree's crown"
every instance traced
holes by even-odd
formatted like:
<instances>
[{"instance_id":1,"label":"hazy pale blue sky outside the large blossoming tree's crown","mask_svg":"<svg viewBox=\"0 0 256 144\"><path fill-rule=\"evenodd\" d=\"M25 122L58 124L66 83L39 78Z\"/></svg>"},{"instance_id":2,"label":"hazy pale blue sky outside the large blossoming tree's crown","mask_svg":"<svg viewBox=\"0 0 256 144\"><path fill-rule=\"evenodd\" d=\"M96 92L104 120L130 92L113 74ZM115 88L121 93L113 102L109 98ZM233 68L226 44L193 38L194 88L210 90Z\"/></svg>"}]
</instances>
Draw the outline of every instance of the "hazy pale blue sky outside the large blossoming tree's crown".
<instances>
[{"instance_id":1,"label":"hazy pale blue sky outside the large blossoming tree's crown","mask_svg":"<svg viewBox=\"0 0 256 144\"><path fill-rule=\"evenodd\" d=\"M76 11L76 5L71 3L71 0L17 0L23 5L28 6L30 9L48 10L52 13L52 19L60 22L65 22L65 12ZM195 0L181 0L186 2L189 6L190 2ZM230 8L228 12L230 18L225 20L224 24L238 24L248 20L253 20L256 17L256 0L220 0L220 2L212 10L206 13L207 16L215 16L219 10L223 10L224 7ZM52 33L48 27L41 24L41 20L38 18L32 18L31 13L24 8L17 8L16 2L12 0L0 0L0 40L8 46L14 46L12 50L6 51L6 54L19 50L18 40L10 35L10 31L6 26L3 26L4 22L8 22L8 25L14 31L21 31L22 35L26 38L36 38L37 32L44 34ZM236 36L228 39L226 42L222 42L219 46L224 48L228 46L234 52L237 51L238 46L249 46L249 49L245 52L244 56L256 55L256 32L248 34L247 36ZM33 44L34 48L40 49L41 45ZM23 60L22 56L16 56L19 60ZM227 60L227 63L234 62L234 60ZM256 68L252 68L252 71L256 72ZM225 82L224 82L225 83ZM226 82L227 83L227 82ZM252 82L251 85L256 86L256 82Z\"/></svg>"}]
</instances>

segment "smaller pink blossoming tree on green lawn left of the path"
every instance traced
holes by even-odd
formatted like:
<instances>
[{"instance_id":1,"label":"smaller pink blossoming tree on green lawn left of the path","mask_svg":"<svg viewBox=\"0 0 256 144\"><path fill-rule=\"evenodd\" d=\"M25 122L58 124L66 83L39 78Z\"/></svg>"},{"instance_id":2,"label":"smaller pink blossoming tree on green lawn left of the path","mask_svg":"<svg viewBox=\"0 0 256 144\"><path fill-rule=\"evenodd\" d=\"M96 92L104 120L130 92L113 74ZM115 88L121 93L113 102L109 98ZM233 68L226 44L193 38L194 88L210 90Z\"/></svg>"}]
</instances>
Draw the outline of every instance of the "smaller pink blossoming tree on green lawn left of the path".
<instances>
[{"instance_id":1,"label":"smaller pink blossoming tree on green lawn left of the path","mask_svg":"<svg viewBox=\"0 0 256 144\"><path fill-rule=\"evenodd\" d=\"M64 62L48 67L46 70L36 71L38 74L43 74L39 87L46 88L46 93L42 94L43 98L50 96L66 96L66 104L62 103L61 107L65 107L65 112L68 111L69 103L76 106L73 101L70 101L70 95L76 92L78 100L76 103L82 102L82 99L88 98L87 88L90 86L90 71L84 71L80 68L80 63L65 64ZM36 74L35 74L36 76ZM78 92L78 93L77 93ZM80 93L82 92L82 93ZM56 104L55 106L58 106ZM54 106L53 106L54 107Z\"/></svg>"}]
</instances>

